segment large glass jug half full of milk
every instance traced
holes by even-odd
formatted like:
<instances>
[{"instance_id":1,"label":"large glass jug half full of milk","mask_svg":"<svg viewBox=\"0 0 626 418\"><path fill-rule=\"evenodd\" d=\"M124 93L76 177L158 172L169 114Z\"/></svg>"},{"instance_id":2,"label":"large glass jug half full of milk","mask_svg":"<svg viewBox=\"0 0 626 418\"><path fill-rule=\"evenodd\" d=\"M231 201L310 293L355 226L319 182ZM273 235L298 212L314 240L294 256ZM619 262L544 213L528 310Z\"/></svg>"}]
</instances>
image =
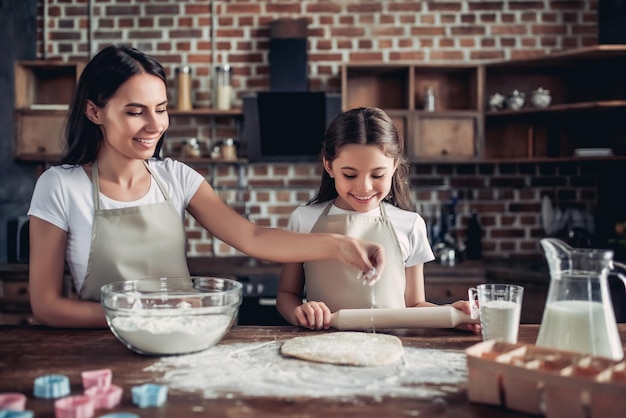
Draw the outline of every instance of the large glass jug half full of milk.
<instances>
[{"instance_id":1,"label":"large glass jug half full of milk","mask_svg":"<svg viewBox=\"0 0 626 418\"><path fill-rule=\"evenodd\" d=\"M626 266L613 262L613 251L572 248L544 238L550 287L537 346L621 360L624 357L607 278L626 283Z\"/></svg>"}]
</instances>

